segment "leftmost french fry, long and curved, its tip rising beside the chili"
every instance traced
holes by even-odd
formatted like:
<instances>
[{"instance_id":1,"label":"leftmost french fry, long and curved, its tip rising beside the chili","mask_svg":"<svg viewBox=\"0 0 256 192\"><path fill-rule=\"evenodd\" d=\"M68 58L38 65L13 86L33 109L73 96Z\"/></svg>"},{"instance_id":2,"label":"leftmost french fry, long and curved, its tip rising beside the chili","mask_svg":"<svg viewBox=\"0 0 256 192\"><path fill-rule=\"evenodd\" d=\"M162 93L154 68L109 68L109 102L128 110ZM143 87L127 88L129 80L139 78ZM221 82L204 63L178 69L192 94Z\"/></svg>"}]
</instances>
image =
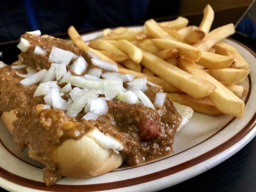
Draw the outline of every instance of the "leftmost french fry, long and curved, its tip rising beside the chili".
<instances>
[{"instance_id":1,"label":"leftmost french fry, long and curved, its tip rising beside the chili","mask_svg":"<svg viewBox=\"0 0 256 192\"><path fill-rule=\"evenodd\" d=\"M115 61L111 60L110 58L106 57L102 53L100 53L98 50L89 48L86 43L83 41L82 37L79 35L79 33L76 31L76 29L73 26L70 26L68 28L68 35L72 39L73 43L76 47L85 50L85 51L92 51L94 54L96 54L100 59L111 62L116 64L118 67L123 68L122 65L119 65Z\"/></svg>"}]
</instances>

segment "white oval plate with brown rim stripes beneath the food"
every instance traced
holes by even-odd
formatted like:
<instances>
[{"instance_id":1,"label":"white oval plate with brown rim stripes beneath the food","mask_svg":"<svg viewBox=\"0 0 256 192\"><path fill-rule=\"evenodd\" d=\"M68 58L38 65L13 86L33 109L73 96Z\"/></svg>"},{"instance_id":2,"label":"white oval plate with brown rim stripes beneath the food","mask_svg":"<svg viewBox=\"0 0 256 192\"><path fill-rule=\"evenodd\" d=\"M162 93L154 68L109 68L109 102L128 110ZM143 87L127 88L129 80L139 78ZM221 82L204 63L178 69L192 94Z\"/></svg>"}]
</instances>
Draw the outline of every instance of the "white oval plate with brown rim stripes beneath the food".
<instances>
[{"instance_id":1,"label":"white oval plate with brown rim stripes beneath the food","mask_svg":"<svg viewBox=\"0 0 256 192\"><path fill-rule=\"evenodd\" d=\"M101 32L93 32L83 39L89 41L100 35ZM256 59L255 53L244 45L228 39L224 42L239 51L251 70L243 82L249 89L243 97L243 119L195 113L176 134L170 156L90 179L65 177L51 187L42 180L42 165L30 159L27 151L19 153L15 149L12 135L0 121L0 186L13 192L157 191L195 177L234 155L256 135Z\"/></svg>"}]
</instances>

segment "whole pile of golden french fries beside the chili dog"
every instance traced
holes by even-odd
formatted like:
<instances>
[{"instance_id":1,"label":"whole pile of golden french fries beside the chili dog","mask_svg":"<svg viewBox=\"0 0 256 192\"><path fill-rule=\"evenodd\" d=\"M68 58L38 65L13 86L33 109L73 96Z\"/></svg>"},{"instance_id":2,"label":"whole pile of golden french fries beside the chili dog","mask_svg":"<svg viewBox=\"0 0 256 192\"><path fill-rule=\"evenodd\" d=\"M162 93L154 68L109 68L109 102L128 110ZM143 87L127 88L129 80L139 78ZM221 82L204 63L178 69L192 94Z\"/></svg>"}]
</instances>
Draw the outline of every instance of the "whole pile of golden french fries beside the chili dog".
<instances>
[{"instance_id":1,"label":"whole pile of golden french fries beside the chili dog","mask_svg":"<svg viewBox=\"0 0 256 192\"><path fill-rule=\"evenodd\" d=\"M145 22L141 30L104 29L88 46L71 26L68 34L78 48L91 50L118 65L119 72L162 87L175 102L207 115L242 118L247 89L239 83L249 74L248 63L232 46L220 42L234 34L226 24L210 31L214 11L207 5L199 26L178 17L173 21Z\"/></svg>"}]
</instances>

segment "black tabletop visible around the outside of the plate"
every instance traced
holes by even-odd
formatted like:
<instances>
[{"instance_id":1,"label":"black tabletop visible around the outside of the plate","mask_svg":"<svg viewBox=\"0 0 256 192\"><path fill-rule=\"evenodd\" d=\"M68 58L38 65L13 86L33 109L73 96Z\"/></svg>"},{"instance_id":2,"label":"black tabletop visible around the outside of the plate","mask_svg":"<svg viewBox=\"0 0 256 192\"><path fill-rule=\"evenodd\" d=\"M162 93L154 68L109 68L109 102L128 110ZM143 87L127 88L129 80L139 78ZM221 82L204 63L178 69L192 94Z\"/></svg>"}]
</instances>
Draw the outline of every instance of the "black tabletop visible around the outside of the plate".
<instances>
[{"instance_id":1,"label":"black tabletop visible around the outside of the plate","mask_svg":"<svg viewBox=\"0 0 256 192\"><path fill-rule=\"evenodd\" d=\"M63 36L65 37L65 36ZM255 39L239 34L232 36L247 47L256 51ZM0 44L3 58L10 63L16 51L16 43ZM11 50L11 51L10 51ZM12 51L13 50L13 51ZM256 192L256 138L218 166L160 192ZM6 192L0 188L0 192Z\"/></svg>"}]
</instances>

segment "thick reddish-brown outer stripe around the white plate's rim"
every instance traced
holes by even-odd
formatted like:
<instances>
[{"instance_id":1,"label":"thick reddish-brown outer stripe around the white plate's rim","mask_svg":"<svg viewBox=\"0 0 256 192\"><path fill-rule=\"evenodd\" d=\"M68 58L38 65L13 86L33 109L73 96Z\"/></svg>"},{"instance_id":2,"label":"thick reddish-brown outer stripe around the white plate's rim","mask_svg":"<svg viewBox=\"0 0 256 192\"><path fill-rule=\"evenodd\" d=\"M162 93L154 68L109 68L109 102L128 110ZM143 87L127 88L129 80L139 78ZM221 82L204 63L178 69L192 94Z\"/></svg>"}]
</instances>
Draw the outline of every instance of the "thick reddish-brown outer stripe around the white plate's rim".
<instances>
[{"instance_id":1,"label":"thick reddish-brown outer stripe around the white plate's rim","mask_svg":"<svg viewBox=\"0 0 256 192\"><path fill-rule=\"evenodd\" d=\"M233 40L232 40L233 41ZM241 43L238 43L239 45L243 46L246 48L249 52L251 52L254 56L255 53L244 46ZM239 140L244 138L255 126L256 124L256 113L252 117L252 119L244 126L242 130L240 130L238 133L236 133L232 138L230 138L228 141L224 142L223 144L220 144L219 146L215 147L214 149L208 151L205 154L202 154L200 156L195 157L194 159L191 159L189 161L186 161L180 165L167 168L155 173L151 173L148 175L144 175L141 177L137 178L132 178L129 180L121 180L121 181L115 181L115 182L109 182L109 183L100 183L100 184L91 184L91 185L59 185L56 184L51 187L46 187L44 183L34 181L34 180L28 180L25 178L22 178L20 176L14 175L3 168L0 168L0 177L10 180L13 183L20 184L25 187L29 188L34 188L34 189L39 189L39 190L44 190L44 191L62 191L62 192L69 192L70 189L75 190L75 192L85 192L85 191L100 191L100 190L108 190L108 189L116 189L116 188L122 188L122 187L127 187L135 184L140 184L143 182L151 181L151 180L156 180L168 175L171 175L173 173L179 172L181 170L184 170L186 168L190 168L198 163L201 163L213 156L218 155L219 153L223 152L224 150L228 149L230 146L233 144L237 143Z\"/></svg>"}]
</instances>

